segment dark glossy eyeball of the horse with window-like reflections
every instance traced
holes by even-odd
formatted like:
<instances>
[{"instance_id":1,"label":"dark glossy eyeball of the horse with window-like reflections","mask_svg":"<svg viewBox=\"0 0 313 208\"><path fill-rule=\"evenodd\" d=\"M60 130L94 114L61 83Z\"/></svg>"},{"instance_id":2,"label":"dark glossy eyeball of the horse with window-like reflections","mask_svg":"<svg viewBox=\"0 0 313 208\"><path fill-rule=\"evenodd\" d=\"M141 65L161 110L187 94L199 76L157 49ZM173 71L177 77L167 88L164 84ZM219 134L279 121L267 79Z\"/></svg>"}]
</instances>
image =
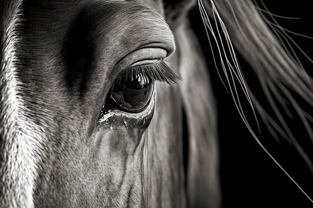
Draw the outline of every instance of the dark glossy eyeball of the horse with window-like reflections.
<instances>
[{"instance_id":1,"label":"dark glossy eyeball of the horse with window-like reflections","mask_svg":"<svg viewBox=\"0 0 313 208\"><path fill-rule=\"evenodd\" d=\"M140 112L150 101L153 80L142 74L125 76L116 79L109 92L108 99L116 107L127 112Z\"/></svg>"}]
</instances>

